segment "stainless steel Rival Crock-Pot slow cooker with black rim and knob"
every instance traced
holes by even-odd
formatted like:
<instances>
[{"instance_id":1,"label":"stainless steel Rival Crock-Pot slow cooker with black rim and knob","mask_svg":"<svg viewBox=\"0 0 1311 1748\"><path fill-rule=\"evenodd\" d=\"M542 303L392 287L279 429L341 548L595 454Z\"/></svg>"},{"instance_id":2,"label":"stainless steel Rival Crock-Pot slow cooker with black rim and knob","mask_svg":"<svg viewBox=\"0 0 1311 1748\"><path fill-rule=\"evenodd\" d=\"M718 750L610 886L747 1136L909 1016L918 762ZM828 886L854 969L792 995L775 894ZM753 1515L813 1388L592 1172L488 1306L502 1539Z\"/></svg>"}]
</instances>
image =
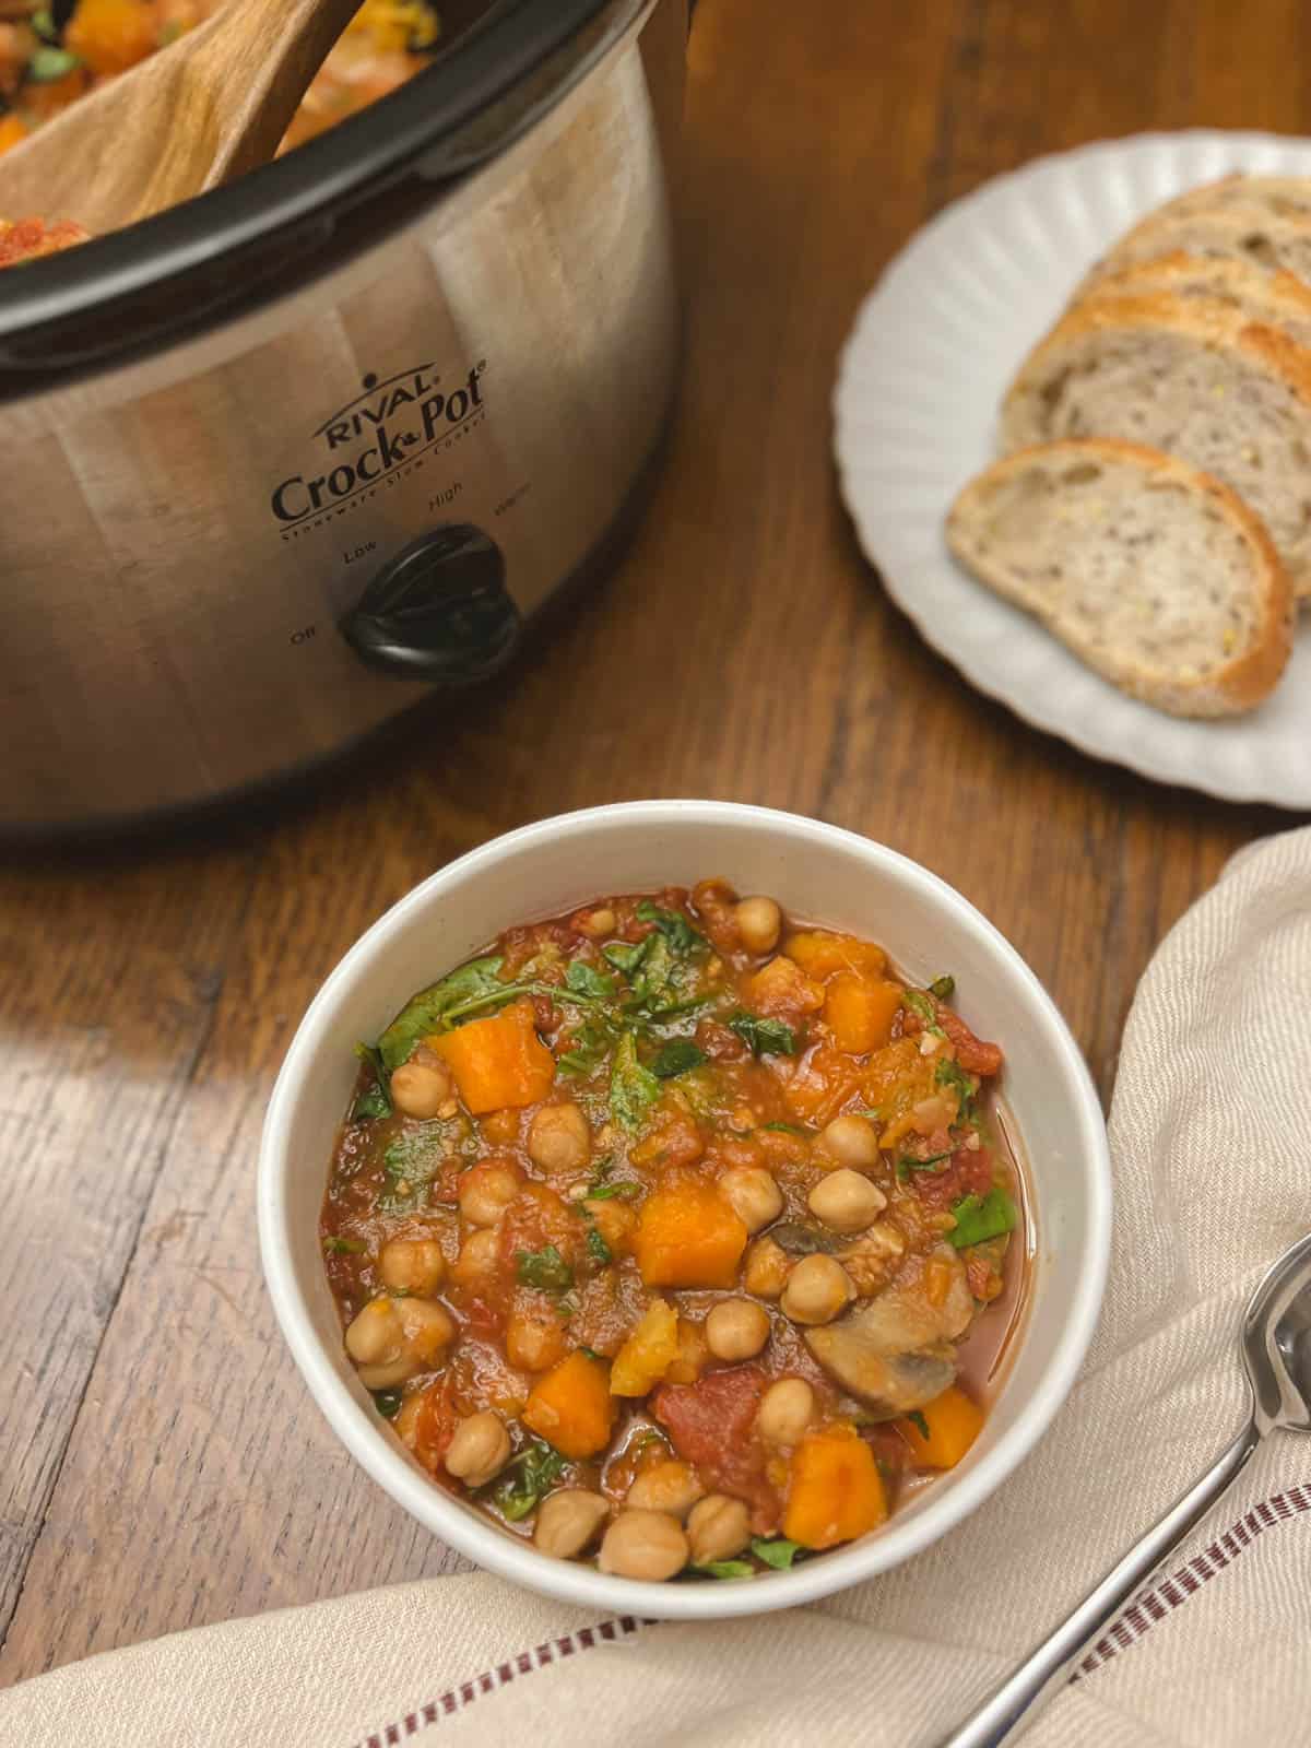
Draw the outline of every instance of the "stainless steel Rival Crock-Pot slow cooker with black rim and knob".
<instances>
[{"instance_id":1,"label":"stainless steel Rival Crock-Pot slow cooker with black rim and knob","mask_svg":"<svg viewBox=\"0 0 1311 1748\"><path fill-rule=\"evenodd\" d=\"M0 832L322 760L614 545L675 383L683 30L496 0L301 150L0 274Z\"/></svg>"}]
</instances>

